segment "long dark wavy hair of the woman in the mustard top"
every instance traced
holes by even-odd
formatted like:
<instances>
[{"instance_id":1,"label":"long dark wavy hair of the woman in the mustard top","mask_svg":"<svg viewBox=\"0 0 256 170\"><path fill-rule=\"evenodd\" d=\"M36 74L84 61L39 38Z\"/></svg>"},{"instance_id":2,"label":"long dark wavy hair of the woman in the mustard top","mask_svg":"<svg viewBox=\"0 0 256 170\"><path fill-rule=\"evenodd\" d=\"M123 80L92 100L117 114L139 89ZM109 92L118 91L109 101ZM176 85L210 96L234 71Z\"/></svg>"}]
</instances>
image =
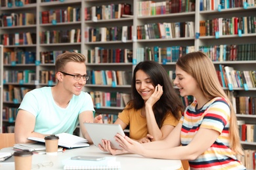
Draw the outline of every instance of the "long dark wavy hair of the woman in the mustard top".
<instances>
[{"instance_id":1,"label":"long dark wavy hair of the woman in the mustard top","mask_svg":"<svg viewBox=\"0 0 256 170\"><path fill-rule=\"evenodd\" d=\"M173 114L173 116L179 120L181 118L181 113L184 111L184 106L182 105L181 98L175 92L171 78L167 74L167 71L155 61L142 61L137 64L133 71L132 80L132 96L133 100L129 102L126 109L142 109L144 107L144 100L136 90L136 73L142 70L146 75L152 80L152 84L156 87L158 84L163 86L163 94L160 99L154 104L153 112L156 118L158 127L161 128L163 120L165 120L167 114Z\"/></svg>"}]
</instances>

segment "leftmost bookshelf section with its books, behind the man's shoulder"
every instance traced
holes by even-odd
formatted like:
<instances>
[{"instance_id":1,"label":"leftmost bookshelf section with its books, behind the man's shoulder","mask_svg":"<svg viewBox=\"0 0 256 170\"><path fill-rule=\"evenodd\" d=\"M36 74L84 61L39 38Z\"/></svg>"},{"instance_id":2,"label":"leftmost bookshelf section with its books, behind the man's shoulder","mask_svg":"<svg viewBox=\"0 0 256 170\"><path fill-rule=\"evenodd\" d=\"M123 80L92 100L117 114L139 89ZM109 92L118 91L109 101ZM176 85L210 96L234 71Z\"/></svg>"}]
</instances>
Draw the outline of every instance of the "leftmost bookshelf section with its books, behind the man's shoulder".
<instances>
[{"instance_id":1,"label":"leftmost bookshelf section with its books, behind the man's shoulder","mask_svg":"<svg viewBox=\"0 0 256 170\"><path fill-rule=\"evenodd\" d=\"M1 58L1 63L3 63L3 77L1 78L3 80L3 95L1 95L3 96L3 101L1 101L1 105L3 105L3 111L1 111L2 133L12 133L14 131L16 109L21 101L21 98L17 97L17 93L21 95L21 90L36 87L34 82L28 82L25 78L23 80L20 76L25 72L28 73L28 71L33 73L36 71L35 61L33 60L37 51L35 43L36 12L36 3L24 4L20 7L16 7L16 5L1 7L0 13L2 16L15 18L11 21L7 20L9 26L5 25L5 20L2 18L1 24L3 26L0 27L1 44L4 45L4 54ZM22 18L26 18L26 20L22 21ZM28 39L29 37L30 39ZM15 61L14 56L17 56L19 61ZM28 59L25 61L25 59L22 59L23 56L26 56L26 58L33 56L32 61L28 61Z\"/></svg>"}]
</instances>

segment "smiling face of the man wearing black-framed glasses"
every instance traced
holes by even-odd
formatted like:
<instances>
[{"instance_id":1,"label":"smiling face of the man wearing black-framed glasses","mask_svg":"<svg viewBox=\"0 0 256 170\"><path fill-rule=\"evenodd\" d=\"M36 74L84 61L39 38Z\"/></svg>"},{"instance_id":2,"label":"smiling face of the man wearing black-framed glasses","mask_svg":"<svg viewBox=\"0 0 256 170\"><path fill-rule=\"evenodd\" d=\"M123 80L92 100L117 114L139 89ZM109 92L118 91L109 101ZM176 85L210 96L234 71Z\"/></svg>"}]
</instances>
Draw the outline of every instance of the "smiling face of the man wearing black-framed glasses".
<instances>
[{"instance_id":1,"label":"smiling face of the man wearing black-framed glasses","mask_svg":"<svg viewBox=\"0 0 256 170\"><path fill-rule=\"evenodd\" d=\"M70 61L66 63L64 68L64 72L71 75L85 75L87 73L85 63ZM83 77L81 77L80 80L74 80L74 76L64 74L62 82L64 88L68 92L73 93L74 95L79 95L83 90L83 86L85 86L86 84L86 81L83 80Z\"/></svg>"}]
</instances>

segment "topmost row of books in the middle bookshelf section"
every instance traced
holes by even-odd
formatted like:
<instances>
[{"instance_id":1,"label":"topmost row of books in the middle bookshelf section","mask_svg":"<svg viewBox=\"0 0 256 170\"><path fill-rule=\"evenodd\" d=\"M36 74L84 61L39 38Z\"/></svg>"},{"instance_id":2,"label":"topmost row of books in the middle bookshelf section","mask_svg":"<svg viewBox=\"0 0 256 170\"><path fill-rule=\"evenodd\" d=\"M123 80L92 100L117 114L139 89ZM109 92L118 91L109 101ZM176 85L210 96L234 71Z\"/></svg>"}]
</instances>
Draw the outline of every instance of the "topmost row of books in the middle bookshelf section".
<instances>
[{"instance_id":1,"label":"topmost row of books in the middle bookshelf section","mask_svg":"<svg viewBox=\"0 0 256 170\"><path fill-rule=\"evenodd\" d=\"M85 7L85 20L109 20L131 16L131 4L119 3Z\"/></svg>"}]
</instances>

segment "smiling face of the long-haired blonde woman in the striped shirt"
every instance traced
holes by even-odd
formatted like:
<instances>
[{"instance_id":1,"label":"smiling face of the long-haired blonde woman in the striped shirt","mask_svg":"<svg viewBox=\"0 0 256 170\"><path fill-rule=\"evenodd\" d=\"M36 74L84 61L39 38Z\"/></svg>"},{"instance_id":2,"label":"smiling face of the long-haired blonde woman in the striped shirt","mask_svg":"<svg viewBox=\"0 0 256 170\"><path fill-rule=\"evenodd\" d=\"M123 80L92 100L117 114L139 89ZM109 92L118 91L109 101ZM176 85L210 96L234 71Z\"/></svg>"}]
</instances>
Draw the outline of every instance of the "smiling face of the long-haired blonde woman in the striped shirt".
<instances>
[{"instance_id":1,"label":"smiling face of the long-haired blonde woman in the striped shirt","mask_svg":"<svg viewBox=\"0 0 256 170\"><path fill-rule=\"evenodd\" d=\"M179 88L180 95L182 97L187 96L187 95L193 95L198 92L198 83L196 80L183 71L179 66L176 66L176 78L174 80L174 84Z\"/></svg>"}]
</instances>

